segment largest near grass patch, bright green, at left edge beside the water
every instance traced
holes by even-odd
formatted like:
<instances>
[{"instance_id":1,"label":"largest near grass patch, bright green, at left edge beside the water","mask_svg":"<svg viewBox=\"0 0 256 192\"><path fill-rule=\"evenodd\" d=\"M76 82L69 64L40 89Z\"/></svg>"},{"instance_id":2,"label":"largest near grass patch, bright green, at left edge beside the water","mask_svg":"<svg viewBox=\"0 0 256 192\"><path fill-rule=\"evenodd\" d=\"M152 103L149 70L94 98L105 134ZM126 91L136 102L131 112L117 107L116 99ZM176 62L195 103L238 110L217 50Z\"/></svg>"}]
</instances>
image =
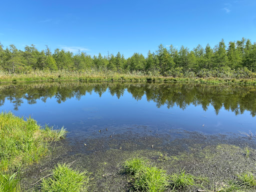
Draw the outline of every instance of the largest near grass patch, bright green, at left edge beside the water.
<instances>
[{"instance_id":1,"label":"largest near grass patch, bright green, at left edge beside the water","mask_svg":"<svg viewBox=\"0 0 256 192\"><path fill-rule=\"evenodd\" d=\"M58 140L65 129L41 129L32 118L14 116L11 112L0 113L0 171L31 164L48 152L48 141Z\"/></svg>"}]
</instances>

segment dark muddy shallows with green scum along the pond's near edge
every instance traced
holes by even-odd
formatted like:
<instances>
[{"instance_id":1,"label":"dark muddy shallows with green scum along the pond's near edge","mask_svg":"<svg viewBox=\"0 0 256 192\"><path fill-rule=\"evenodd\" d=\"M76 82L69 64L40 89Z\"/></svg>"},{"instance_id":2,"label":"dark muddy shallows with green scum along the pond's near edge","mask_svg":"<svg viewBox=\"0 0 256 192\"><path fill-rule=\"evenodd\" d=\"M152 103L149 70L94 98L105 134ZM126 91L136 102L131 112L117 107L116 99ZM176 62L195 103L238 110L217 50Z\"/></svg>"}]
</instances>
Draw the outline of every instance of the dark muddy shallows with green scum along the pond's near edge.
<instances>
[{"instance_id":1,"label":"dark muddy shallows with green scum along the pond's near edge","mask_svg":"<svg viewBox=\"0 0 256 192\"><path fill-rule=\"evenodd\" d=\"M131 157L147 158L167 174L184 169L187 173L208 177L206 188L212 191L216 185L235 179L236 174L255 171L256 142L244 135L206 135L184 130L145 136L129 131L111 134L111 130L95 134L101 135L89 138L81 134L52 143L54 150L50 156L24 169L23 191L38 191L40 181L33 183L48 175L57 163L71 163L72 168L87 170L88 191L129 191L131 183L123 174L122 165Z\"/></svg>"}]
</instances>

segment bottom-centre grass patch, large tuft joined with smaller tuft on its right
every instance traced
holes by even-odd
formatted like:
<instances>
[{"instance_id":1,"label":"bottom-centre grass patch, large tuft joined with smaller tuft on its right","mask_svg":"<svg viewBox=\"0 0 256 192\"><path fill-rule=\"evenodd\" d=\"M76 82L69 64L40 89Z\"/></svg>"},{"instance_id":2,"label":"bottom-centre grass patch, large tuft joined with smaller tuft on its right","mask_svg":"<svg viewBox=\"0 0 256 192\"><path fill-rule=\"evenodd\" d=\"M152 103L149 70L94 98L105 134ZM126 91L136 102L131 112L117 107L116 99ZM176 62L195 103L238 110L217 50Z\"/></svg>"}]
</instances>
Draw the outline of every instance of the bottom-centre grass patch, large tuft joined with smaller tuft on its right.
<instances>
[{"instance_id":1,"label":"bottom-centre grass patch, large tuft joined with smaller tuft on its right","mask_svg":"<svg viewBox=\"0 0 256 192\"><path fill-rule=\"evenodd\" d=\"M165 170L150 165L142 158L128 159L123 167L125 173L130 175L135 191L179 191L192 186L203 187L208 182L207 178L185 173L183 169L167 175Z\"/></svg>"}]
</instances>

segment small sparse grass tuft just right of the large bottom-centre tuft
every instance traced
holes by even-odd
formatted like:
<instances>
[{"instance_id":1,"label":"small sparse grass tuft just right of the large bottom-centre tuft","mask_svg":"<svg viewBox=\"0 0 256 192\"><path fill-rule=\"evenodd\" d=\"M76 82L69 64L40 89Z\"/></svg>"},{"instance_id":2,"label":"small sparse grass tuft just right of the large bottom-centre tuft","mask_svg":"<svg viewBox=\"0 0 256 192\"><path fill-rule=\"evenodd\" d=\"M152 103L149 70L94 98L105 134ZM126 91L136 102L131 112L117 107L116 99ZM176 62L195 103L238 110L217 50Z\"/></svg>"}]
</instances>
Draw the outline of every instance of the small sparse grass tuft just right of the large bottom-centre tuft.
<instances>
[{"instance_id":1,"label":"small sparse grass tuft just right of the large bottom-centre tuft","mask_svg":"<svg viewBox=\"0 0 256 192\"><path fill-rule=\"evenodd\" d=\"M203 183L205 182L208 182L207 178L186 173L184 169L170 175L170 187L172 191L191 186L203 187Z\"/></svg>"}]
</instances>

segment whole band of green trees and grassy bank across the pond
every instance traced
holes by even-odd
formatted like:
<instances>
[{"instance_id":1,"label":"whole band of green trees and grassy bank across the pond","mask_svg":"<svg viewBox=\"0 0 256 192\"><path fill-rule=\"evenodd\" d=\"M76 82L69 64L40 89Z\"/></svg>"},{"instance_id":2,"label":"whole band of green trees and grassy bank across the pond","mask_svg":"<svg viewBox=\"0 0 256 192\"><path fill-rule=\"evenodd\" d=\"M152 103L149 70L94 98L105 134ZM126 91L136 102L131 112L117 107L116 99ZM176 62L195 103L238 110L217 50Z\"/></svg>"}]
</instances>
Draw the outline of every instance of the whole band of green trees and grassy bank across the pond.
<instances>
[{"instance_id":1,"label":"whole band of green trees and grassy bank across the pond","mask_svg":"<svg viewBox=\"0 0 256 192\"><path fill-rule=\"evenodd\" d=\"M198 44L169 48L162 44L147 56L134 53L91 56L85 52L59 50L48 46L37 50L32 44L24 51L15 45L3 49L0 44L0 82L34 80L85 81L196 81L210 83L247 83L256 80L256 43L242 38L225 45L222 39L213 48Z\"/></svg>"}]
</instances>

